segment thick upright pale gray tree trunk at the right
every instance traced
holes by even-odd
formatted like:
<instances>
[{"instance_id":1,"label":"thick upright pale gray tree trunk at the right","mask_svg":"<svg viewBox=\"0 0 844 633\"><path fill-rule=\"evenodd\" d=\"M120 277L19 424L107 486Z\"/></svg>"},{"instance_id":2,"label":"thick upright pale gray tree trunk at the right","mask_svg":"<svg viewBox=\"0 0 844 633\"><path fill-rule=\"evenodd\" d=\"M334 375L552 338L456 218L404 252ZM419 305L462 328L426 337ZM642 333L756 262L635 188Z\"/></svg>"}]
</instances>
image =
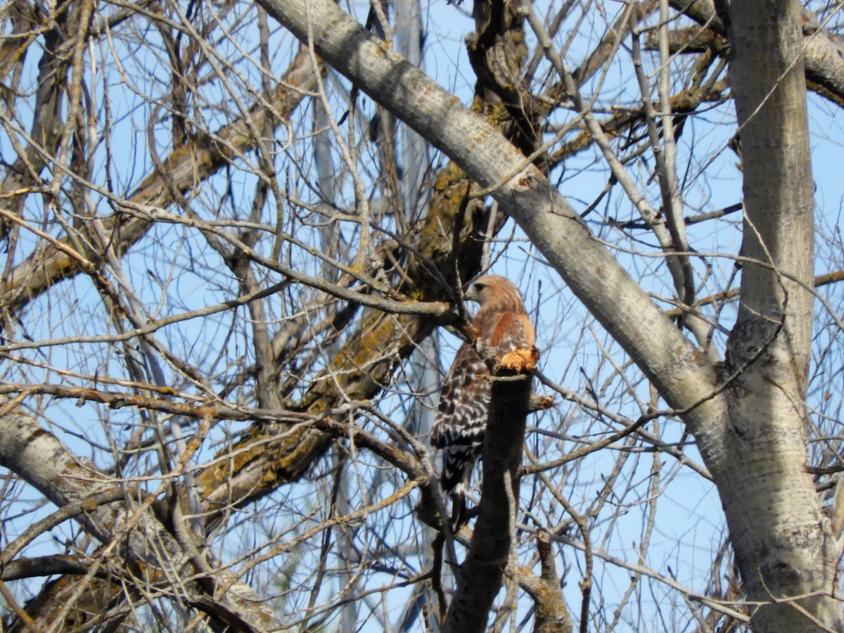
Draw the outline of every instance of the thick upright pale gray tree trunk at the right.
<instances>
[{"instance_id":1,"label":"thick upright pale gray tree trunk at the right","mask_svg":"<svg viewBox=\"0 0 844 633\"><path fill-rule=\"evenodd\" d=\"M806 463L812 335L814 185L797 0L731 3L728 35L744 163L741 306L728 345L728 433L736 477L722 479L730 536L757 631L842 630L841 544ZM823 594L827 595L823 595Z\"/></svg>"}]
</instances>

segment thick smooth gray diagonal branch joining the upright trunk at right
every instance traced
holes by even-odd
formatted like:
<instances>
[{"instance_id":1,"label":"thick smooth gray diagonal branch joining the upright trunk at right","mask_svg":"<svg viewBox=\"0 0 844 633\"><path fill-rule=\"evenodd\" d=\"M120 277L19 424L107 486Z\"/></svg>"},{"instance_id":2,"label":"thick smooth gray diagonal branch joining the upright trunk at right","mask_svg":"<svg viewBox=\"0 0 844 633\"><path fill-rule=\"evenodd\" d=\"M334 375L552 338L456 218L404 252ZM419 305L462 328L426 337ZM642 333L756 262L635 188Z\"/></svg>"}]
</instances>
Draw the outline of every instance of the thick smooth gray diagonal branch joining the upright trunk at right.
<instances>
[{"instance_id":1,"label":"thick smooth gray diagonal branch joining the upright trunk at right","mask_svg":"<svg viewBox=\"0 0 844 633\"><path fill-rule=\"evenodd\" d=\"M463 166L516 219L571 290L679 408L698 402L715 376L619 262L593 241L564 197L489 123L372 38L328 0L262 0L268 14L340 73ZM690 414L694 419L695 414Z\"/></svg>"}]
</instances>

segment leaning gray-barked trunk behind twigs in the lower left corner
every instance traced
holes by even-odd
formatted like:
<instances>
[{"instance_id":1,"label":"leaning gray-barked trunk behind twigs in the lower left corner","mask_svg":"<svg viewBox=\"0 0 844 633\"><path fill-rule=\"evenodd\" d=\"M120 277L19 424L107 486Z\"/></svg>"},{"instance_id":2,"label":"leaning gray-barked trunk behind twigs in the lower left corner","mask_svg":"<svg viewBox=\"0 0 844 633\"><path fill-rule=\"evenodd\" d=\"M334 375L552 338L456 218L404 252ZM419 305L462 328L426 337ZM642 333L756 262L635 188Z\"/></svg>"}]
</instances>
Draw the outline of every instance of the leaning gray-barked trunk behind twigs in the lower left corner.
<instances>
[{"instance_id":1,"label":"leaning gray-barked trunk behind twigs in the lower left corner","mask_svg":"<svg viewBox=\"0 0 844 633\"><path fill-rule=\"evenodd\" d=\"M18 474L59 507L84 504L76 518L85 530L105 546L102 564L108 565L112 552L122 561L139 561L149 587L180 589L177 598L206 612L212 630L265 631L281 628L271 610L245 583L227 570L212 571L198 552L185 552L173 534L156 518L151 500L133 484L121 487L100 473L93 464L69 452L34 419L15 410L16 403L3 402L0 415L0 466ZM10 410L11 409L11 410ZM110 495L125 500L114 503L87 503L86 500ZM176 519L177 520L177 519ZM160 566L166 561L166 566ZM122 565L125 567L125 565ZM121 567L111 571L120 576ZM185 573L187 571L187 574ZM94 568L89 570L90 574ZM182 578L207 572L206 582ZM231 629L230 629L231 630Z\"/></svg>"}]
</instances>

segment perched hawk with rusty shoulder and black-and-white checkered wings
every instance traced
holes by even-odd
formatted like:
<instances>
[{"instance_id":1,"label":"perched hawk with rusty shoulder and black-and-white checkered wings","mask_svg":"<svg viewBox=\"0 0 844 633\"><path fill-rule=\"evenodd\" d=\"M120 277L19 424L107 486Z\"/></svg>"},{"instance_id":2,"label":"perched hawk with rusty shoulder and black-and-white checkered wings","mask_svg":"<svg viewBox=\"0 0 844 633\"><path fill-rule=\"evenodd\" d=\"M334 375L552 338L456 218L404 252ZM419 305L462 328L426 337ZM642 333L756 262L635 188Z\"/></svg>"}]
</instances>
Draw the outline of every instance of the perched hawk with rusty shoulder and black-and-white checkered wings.
<instances>
[{"instance_id":1,"label":"perched hawk with rusty shoulder and black-and-white checkered wings","mask_svg":"<svg viewBox=\"0 0 844 633\"><path fill-rule=\"evenodd\" d=\"M486 377L490 370L477 350L495 356L499 367L515 371L532 370L538 360L536 333L527 318L522 294L509 279L481 277L469 286L465 297L480 304L468 327L475 343L464 343L457 350L430 435L431 446L443 453L440 484L446 494L452 495L455 529L465 522L466 490L484 446L492 394Z\"/></svg>"}]
</instances>

